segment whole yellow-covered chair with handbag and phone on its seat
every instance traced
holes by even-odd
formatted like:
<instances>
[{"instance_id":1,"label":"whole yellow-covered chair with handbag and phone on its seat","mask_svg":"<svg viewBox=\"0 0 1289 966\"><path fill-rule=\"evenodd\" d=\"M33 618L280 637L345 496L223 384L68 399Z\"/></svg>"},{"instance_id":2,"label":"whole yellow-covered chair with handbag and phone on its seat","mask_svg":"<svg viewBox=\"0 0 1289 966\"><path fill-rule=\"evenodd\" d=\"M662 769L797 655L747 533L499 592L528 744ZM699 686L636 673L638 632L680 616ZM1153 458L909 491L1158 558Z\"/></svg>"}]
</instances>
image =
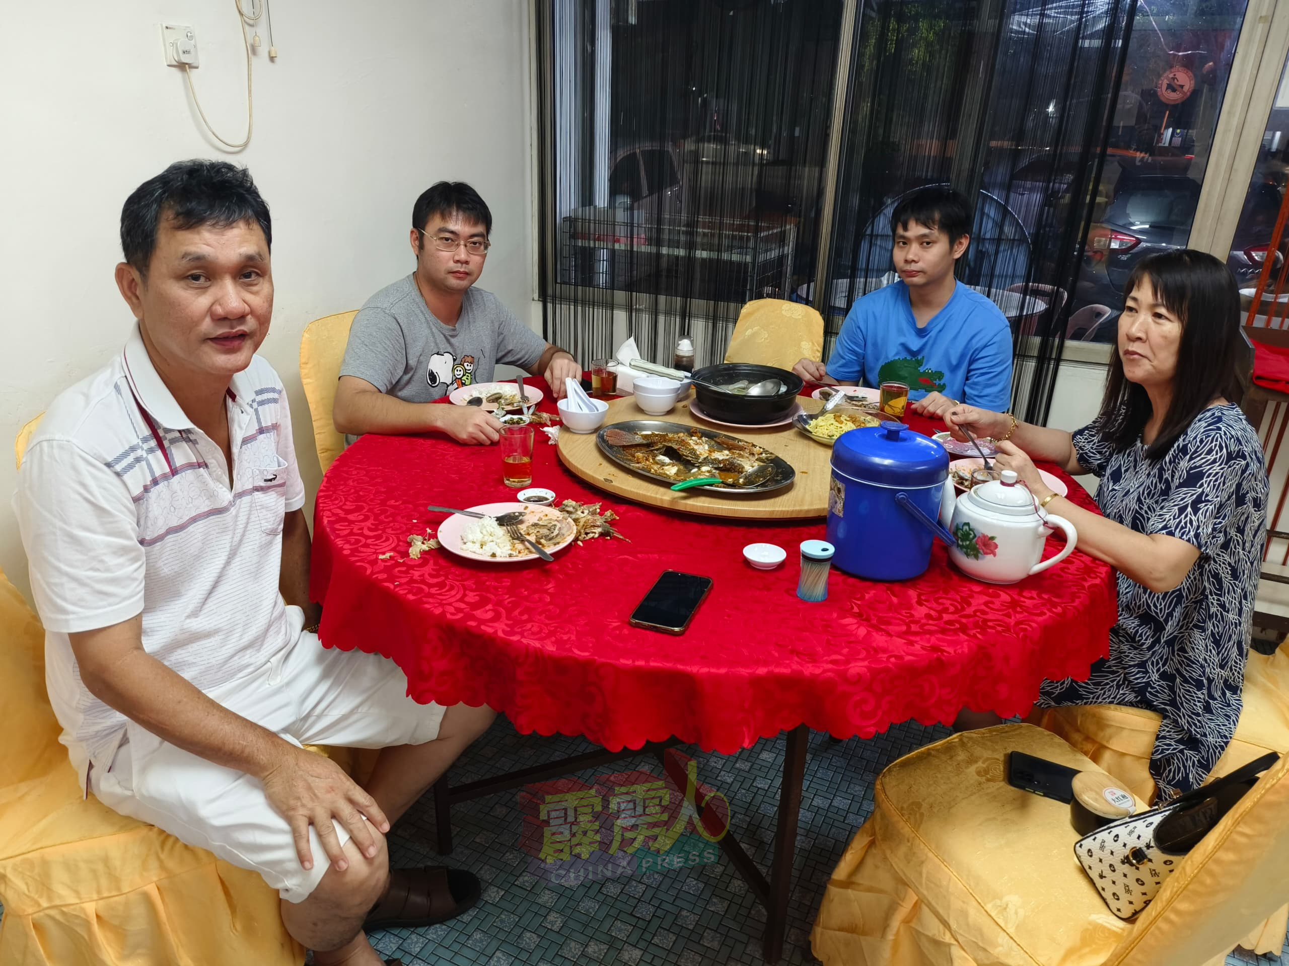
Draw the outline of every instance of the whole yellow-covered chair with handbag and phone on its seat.
<instances>
[{"instance_id":1,"label":"whole yellow-covered chair with handbag and phone on its seat","mask_svg":"<svg viewBox=\"0 0 1289 966\"><path fill-rule=\"evenodd\" d=\"M1101 770L1025 724L896 761L828 884L815 956L826 966L1219 966L1284 902L1289 757L1123 922L1075 859L1069 806L1004 781L1011 751Z\"/></svg>"}]
</instances>

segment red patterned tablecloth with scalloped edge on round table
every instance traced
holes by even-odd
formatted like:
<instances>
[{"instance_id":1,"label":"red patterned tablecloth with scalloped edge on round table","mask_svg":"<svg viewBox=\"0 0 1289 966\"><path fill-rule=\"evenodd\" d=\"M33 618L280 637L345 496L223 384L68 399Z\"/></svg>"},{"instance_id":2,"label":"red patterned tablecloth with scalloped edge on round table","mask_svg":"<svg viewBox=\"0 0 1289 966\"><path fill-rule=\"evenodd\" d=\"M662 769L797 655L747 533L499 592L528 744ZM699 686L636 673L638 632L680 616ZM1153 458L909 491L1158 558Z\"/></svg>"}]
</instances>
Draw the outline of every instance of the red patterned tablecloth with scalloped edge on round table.
<instances>
[{"instance_id":1,"label":"red patterned tablecloth with scalloped edge on round table","mask_svg":"<svg viewBox=\"0 0 1289 966\"><path fill-rule=\"evenodd\" d=\"M1071 498L1094 509L1070 483ZM1023 714L1043 679L1085 677L1107 653L1112 574L1079 551L995 587L953 569L937 541L916 580L875 583L833 568L828 600L807 604L797 547L824 537L824 520L739 523L611 498L565 470L540 431L534 484L557 502L602 500L632 542L586 541L550 564L446 550L405 559L407 536L445 519L428 504L514 498L498 450L445 437L351 446L322 480L315 516L324 643L392 658L418 701L487 702L519 732L583 734L615 751L675 735L732 752L800 724L870 737L909 719L953 721L964 706ZM781 545L788 563L748 567L741 549L757 541ZM683 636L626 623L664 569L714 580Z\"/></svg>"}]
</instances>

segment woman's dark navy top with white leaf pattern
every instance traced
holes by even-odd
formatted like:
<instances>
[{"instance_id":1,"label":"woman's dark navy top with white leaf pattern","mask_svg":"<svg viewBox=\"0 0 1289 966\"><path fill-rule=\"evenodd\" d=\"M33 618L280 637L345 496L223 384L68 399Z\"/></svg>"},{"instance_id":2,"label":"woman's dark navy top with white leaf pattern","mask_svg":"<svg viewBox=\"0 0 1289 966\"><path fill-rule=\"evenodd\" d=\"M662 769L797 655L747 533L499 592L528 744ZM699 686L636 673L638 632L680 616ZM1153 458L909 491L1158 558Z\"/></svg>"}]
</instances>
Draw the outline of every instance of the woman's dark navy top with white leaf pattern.
<instances>
[{"instance_id":1,"label":"woman's dark navy top with white leaf pattern","mask_svg":"<svg viewBox=\"0 0 1289 966\"><path fill-rule=\"evenodd\" d=\"M1139 533L1199 547L1181 586L1155 594L1121 573L1110 657L1087 681L1047 681L1039 705L1127 705L1163 715L1150 773L1159 801L1208 778L1240 717L1244 661L1267 535L1267 470L1258 434L1235 404L1200 412L1158 461L1114 452L1101 420L1074 434L1079 464L1101 478L1101 511Z\"/></svg>"}]
</instances>

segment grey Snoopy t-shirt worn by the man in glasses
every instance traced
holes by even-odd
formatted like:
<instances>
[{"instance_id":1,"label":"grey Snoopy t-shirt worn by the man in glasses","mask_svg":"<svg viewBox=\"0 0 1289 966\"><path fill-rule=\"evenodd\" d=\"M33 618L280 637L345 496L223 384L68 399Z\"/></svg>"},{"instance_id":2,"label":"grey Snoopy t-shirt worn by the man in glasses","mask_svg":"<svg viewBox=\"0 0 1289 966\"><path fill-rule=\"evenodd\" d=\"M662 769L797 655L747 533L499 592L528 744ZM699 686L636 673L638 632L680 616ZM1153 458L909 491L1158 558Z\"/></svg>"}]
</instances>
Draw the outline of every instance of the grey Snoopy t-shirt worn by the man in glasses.
<instances>
[{"instance_id":1,"label":"grey Snoopy t-shirt worn by the man in glasses","mask_svg":"<svg viewBox=\"0 0 1289 966\"><path fill-rule=\"evenodd\" d=\"M545 348L540 335L482 289L468 289L456 325L443 325L407 276L358 312L340 375L365 379L405 402L433 402L459 386L491 381L498 363L531 370Z\"/></svg>"}]
</instances>

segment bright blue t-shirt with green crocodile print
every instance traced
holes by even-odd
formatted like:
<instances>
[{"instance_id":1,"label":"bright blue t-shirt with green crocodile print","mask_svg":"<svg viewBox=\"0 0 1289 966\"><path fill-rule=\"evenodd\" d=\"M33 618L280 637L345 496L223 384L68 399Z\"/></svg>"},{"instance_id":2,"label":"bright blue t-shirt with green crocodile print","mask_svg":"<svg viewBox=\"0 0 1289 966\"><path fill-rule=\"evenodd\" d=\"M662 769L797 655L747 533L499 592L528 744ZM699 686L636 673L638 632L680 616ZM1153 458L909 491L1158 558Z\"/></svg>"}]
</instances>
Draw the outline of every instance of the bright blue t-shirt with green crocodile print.
<instances>
[{"instance_id":1,"label":"bright blue t-shirt with green crocodile print","mask_svg":"<svg viewBox=\"0 0 1289 966\"><path fill-rule=\"evenodd\" d=\"M918 328L909 286L895 282L856 301L833 346L828 375L840 383L904 383L909 398L944 393L982 410L1012 404L1012 330L998 305L962 282Z\"/></svg>"}]
</instances>

